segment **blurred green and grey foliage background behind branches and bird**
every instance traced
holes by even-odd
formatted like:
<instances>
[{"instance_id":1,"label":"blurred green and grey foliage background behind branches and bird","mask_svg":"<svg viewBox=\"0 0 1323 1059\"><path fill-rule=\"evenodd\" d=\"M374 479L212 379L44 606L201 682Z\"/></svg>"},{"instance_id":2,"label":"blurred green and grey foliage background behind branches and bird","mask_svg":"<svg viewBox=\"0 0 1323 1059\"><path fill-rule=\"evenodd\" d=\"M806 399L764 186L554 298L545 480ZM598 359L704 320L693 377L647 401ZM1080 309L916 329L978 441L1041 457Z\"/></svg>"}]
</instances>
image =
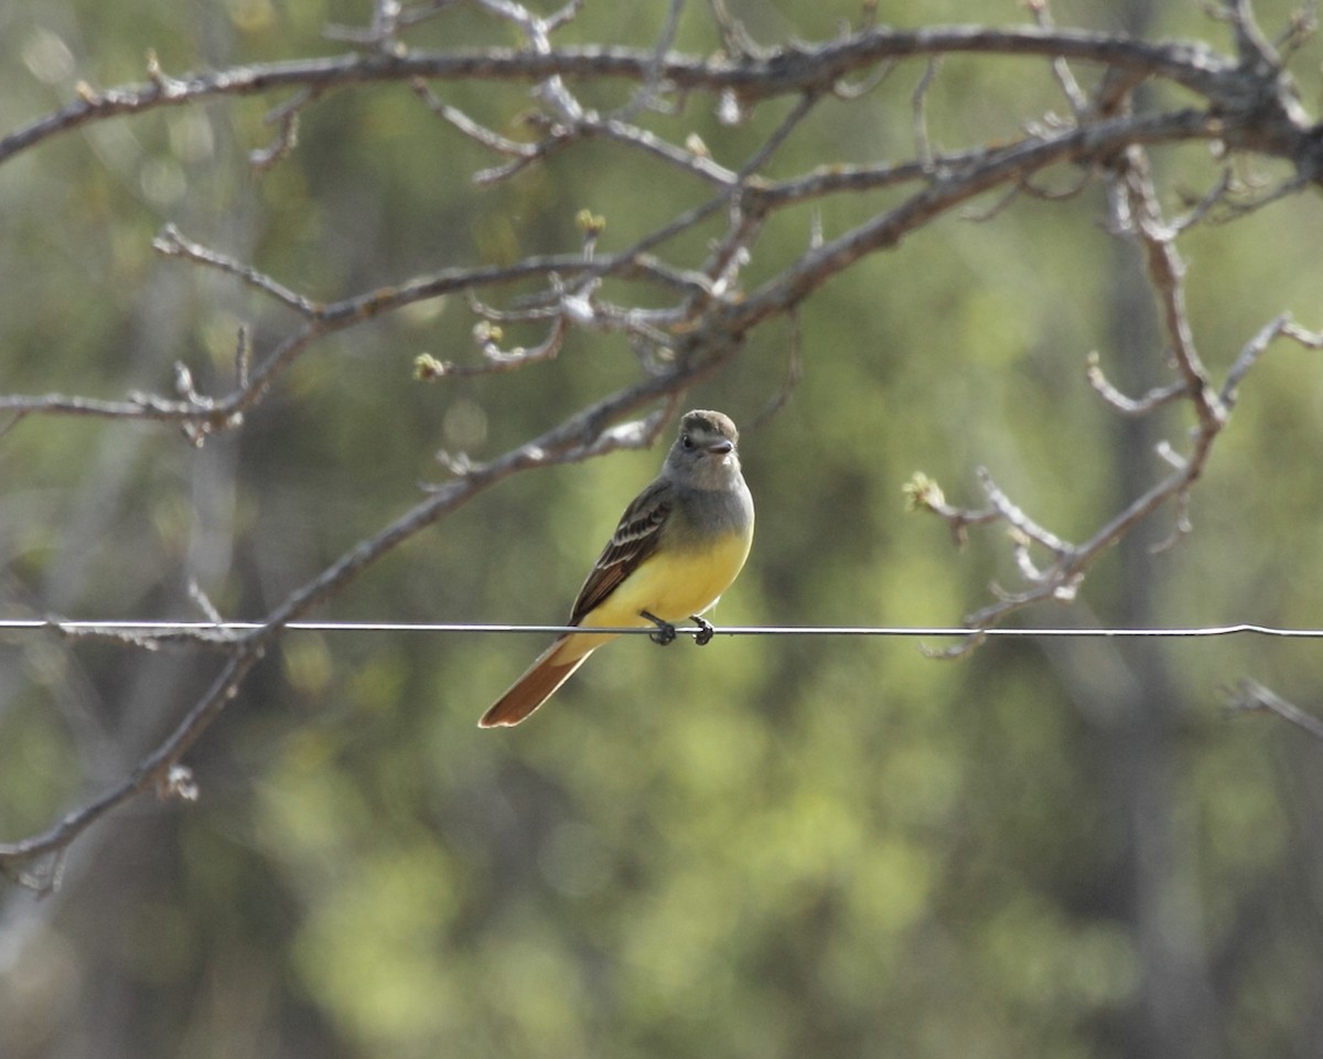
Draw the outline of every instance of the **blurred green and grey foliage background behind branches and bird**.
<instances>
[{"instance_id":1,"label":"blurred green and grey foliage background behind branches and bird","mask_svg":"<svg viewBox=\"0 0 1323 1059\"><path fill-rule=\"evenodd\" d=\"M823 40L855 4L733 5L763 44ZM1270 34L1287 4L1259 4ZM1054 8L1061 25L1226 45L1199 4ZM44 0L0 5L0 127L93 86L339 53L349 0ZM560 42L646 45L664 5L590 0ZM1027 19L1012 3L878 5L878 20ZM419 46L512 45L460 8ZM716 46L691 3L677 48ZM1316 44L1295 68L1312 110ZM904 159L922 65L828 103L769 172ZM627 86L583 89L599 106ZM527 86L438 93L511 134ZM149 249L167 222L321 299L447 266L572 252L574 216L628 245L706 189L587 144L480 189L493 159L405 85L307 110L267 173L279 98L89 126L0 168L0 392L204 392L235 328L294 322L233 281ZM1015 135L1064 107L1045 64L951 60L938 150ZM775 126L712 101L647 120L738 165ZM1159 152L1171 209L1217 179L1204 147ZM1248 164L1246 176L1281 176ZM1069 173L1061 173L1062 184ZM824 204L828 236L884 196ZM992 205L992 201L983 205ZM745 430L758 503L718 623L950 625L1013 585L1002 531L958 551L904 514L918 469L978 504L974 467L1068 539L1164 470L1183 412L1121 421L1089 391L1101 353L1130 392L1167 381L1136 249L1101 187L945 218L865 259L803 310L804 379ZM749 278L806 242L779 218ZM1225 372L1271 316L1319 314L1323 210L1310 192L1181 244L1196 338ZM701 259L701 241L671 253ZM243 430L192 449L151 425L32 418L0 437L4 613L196 617L196 578L257 617L443 477L639 373L623 339L572 335L549 364L418 384L413 359L475 356L462 300L435 300L304 355ZM536 331L511 335L532 344ZM755 332L688 406L746 425L781 387L785 327ZM1192 496L1195 532L1152 553L1159 516L1073 608L1035 625L1323 625L1316 353L1277 345L1248 379ZM669 434L669 430L668 430ZM369 569L319 617L557 622L662 451L511 479ZM1316 743L1230 716L1254 676L1302 704L1310 641L995 641L938 662L906 639L613 645L515 731L479 714L538 637L291 633L189 756L196 805L140 798L79 841L65 886L0 892L0 1055L97 1056L1314 1056L1323 1040L1323 773ZM934 643L931 646L942 646ZM0 642L0 838L48 826L124 774L214 659L8 635ZM643 690L640 690L643 688Z\"/></svg>"}]
</instances>

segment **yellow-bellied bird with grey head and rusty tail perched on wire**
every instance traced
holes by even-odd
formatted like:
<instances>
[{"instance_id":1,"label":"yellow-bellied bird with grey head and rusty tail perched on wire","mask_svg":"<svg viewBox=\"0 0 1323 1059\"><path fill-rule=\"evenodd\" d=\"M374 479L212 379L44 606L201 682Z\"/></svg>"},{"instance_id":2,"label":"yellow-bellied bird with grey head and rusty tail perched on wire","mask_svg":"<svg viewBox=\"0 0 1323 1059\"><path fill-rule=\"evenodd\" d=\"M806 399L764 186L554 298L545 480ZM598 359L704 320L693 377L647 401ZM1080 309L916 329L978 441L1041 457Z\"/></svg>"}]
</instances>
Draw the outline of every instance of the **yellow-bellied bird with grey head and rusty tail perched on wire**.
<instances>
[{"instance_id":1,"label":"yellow-bellied bird with grey head and rusty tail perched on wire","mask_svg":"<svg viewBox=\"0 0 1323 1059\"><path fill-rule=\"evenodd\" d=\"M753 544L753 496L740 470L740 432L721 412L696 409L680 420L662 473L634 498L593 565L568 625L583 629L655 626L656 643L675 639L689 617L695 642L712 639L703 617L736 580ZM562 633L478 721L519 724L618 633Z\"/></svg>"}]
</instances>

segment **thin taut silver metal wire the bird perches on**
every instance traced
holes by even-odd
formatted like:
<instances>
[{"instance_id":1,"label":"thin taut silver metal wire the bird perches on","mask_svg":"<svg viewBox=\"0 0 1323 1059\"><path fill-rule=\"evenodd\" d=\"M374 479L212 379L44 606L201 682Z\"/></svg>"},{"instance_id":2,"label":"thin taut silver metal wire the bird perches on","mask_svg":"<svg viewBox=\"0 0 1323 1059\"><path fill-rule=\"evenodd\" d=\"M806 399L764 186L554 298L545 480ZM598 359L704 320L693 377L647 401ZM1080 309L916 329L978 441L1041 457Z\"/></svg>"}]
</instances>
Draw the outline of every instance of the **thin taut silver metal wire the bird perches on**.
<instances>
[{"instance_id":1,"label":"thin taut silver metal wire the bird perches on","mask_svg":"<svg viewBox=\"0 0 1323 1059\"><path fill-rule=\"evenodd\" d=\"M64 621L58 618L0 618L0 631L30 631L38 629L62 629L71 633L115 633L122 635L160 635L169 633L250 633L265 627L255 621ZM557 635L560 633L582 633L577 625L500 625L491 622L398 622L398 621L291 621L283 629L308 633L540 633ZM594 633L618 633L620 635L651 635L656 631L646 627L594 627ZM696 627L676 626L680 635L695 634ZM1283 629L1270 625L1237 622L1234 625L1208 625L1170 629L966 629L951 626L876 626L876 625L718 625L713 630L721 637L1008 637L1008 638L1207 638L1232 635L1261 635L1286 639L1320 639L1323 629Z\"/></svg>"}]
</instances>

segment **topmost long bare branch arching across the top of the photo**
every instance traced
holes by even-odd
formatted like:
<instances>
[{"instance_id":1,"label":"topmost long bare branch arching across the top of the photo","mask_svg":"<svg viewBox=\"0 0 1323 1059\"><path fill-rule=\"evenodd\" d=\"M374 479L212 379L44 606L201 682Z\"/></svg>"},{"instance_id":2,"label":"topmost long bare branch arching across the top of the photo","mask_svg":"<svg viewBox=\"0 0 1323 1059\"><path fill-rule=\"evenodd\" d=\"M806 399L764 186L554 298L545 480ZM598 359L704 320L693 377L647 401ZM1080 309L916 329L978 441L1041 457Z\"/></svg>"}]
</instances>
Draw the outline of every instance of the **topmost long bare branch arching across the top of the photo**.
<instances>
[{"instance_id":1,"label":"topmost long bare branch arching across the top of the photo","mask_svg":"<svg viewBox=\"0 0 1323 1059\"><path fill-rule=\"evenodd\" d=\"M490 5L488 5L490 7ZM534 20L536 21L536 20ZM765 56L732 52L730 57L697 58L671 53L658 70L652 50L628 48L558 48L520 52L455 52L406 54L349 54L191 73L171 81L149 81L97 91L79 89L75 102L0 139L0 163L50 136L87 122L140 114L160 106L181 106L221 95L254 95L286 89L324 93L329 89L381 81L533 81L549 78L623 78L664 81L676 91L732 91L742 106L778 95L832 91L843 77L873 70L880 64L913 57L957 53L1039 56L1095 62L1143 77L1172 79L1215 105L1224 114L1229 139L1244 138L1257 150L1294 156L1307 120L1281 103L1278 120L1259 110L1253 128L1236 115L1246 99L1262 101L1246 78L1252 71L1213 54L1201 44L1150 44L1107 33L1045 30L1032 26L986 29L934 26L918 30L873 28L820 45L769 49ZM1294 130L1294 131L1293 131Z\"/></svg>"}]
</instances>

